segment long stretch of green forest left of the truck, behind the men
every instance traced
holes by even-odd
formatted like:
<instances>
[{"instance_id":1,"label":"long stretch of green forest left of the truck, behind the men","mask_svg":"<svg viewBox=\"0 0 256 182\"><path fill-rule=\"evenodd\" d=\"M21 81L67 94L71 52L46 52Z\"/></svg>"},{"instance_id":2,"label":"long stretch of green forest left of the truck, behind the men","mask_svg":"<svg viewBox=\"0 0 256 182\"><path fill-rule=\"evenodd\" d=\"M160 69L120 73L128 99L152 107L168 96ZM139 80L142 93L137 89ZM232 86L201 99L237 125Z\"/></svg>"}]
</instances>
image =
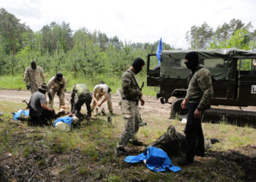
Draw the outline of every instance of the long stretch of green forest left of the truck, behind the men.
<instances>
[{"instance_id":1,"label":"long stretch of green forest left of the truck, behind the men","mask_svg":"<svg viewBox=\"0 0 256 182\"><path fill-rule=\"evenodd\" d=\"M36 60L45 72L82 74L93 78L97 74L120 73L136 57L146 58L156 52L158 41L127 43L118 36L108 37L100 31L81 28L73 32L69 23L53 22L33 32L17 17L0 9L0 75L23 74L31 60ZM172 50L162 43L163 49Z\"/></svg>"}]
</instances>

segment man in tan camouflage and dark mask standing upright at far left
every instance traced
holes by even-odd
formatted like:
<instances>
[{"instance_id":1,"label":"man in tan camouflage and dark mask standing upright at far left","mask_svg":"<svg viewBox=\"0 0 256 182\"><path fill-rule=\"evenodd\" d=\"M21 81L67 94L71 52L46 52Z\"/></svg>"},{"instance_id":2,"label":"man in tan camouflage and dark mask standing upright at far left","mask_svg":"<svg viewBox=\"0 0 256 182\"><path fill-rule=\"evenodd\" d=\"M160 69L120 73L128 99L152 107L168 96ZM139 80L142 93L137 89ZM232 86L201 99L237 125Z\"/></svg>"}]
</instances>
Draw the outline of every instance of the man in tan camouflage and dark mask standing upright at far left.
<instances>
[{"instance_id":1,"label":"man in tan camouflage and dark mask standing upright at far left","mask_svg":"<svg viewBox=\"0 0 256 182\"><path fill-rule=\"evenodd\" d=\"M42 79L44 84L46 83L45 73L37 63L32 60L31 66L26 68L24 73L24 82L26 84L27 90L31 91L31 94L37 92L39 87L42 85Z\"/></svg>"}]
</instances>

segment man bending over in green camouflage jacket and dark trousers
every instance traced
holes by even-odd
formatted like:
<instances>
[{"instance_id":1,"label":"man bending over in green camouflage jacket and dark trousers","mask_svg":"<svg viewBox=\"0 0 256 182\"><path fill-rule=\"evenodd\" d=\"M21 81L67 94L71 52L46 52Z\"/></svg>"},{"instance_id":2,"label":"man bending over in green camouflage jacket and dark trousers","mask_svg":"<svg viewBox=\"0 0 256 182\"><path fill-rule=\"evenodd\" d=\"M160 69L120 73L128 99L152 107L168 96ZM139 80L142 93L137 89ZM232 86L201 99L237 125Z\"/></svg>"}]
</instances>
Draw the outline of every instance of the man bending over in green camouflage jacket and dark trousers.
<instances>
[{"instance_id":1,"label":"man bending over in green camouflage jacket and dark trousers","mask_svg":"<svg viewBox=\"0 0 256 182\"><path fill-rule=\"evenodd\" d=\"M75 100L75 95L77 95L77 99ZM73 106L72 111L74 111L75 116L81 118L83 114L80 113L81 107L84 103L86 103L87 108L87 116L91 117L91 92L88 89L86 84L75 84L72 87L71 94L71 105Z\"/></svg>"}]
</instances>

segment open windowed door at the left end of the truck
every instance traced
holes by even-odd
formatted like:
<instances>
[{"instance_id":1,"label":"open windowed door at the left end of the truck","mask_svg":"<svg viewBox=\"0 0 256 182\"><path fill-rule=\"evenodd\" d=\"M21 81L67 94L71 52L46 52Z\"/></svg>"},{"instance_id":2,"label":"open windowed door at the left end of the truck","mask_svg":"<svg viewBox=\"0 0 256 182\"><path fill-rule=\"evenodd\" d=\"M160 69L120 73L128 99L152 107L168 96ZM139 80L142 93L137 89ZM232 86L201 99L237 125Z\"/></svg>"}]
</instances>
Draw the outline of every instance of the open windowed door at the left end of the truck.
<instances>
[{"instance_id":1,"label":"open windowed door at the left end of the truck","mask_svg":"<svg viewBox=\"0 0 256 182\"><path fill-rule=\"evenodd\" d=\"M147 63L147 85L151 87L159 87L160 82L160 66L156 54L148 54Z\"/></svg>"}]
</instances>

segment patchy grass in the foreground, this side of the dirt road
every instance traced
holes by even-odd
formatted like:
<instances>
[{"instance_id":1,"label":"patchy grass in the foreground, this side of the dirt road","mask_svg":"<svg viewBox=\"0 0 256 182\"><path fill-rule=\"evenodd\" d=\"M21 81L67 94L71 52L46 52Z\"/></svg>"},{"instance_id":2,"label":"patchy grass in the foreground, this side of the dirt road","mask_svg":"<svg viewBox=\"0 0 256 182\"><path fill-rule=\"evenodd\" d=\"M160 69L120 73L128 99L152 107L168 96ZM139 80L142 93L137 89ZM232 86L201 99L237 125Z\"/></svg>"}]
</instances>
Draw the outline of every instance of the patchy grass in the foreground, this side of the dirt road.
<instances>
[{"instance_id":1,"label":"patchy grass in the foreground, this side of the dirt road","mask_svg":"<svg viewBox=\"0 0 256 182\"><path fill-rule=\"evenodd\" d=\"M255 165L248 165L242 152L256 151L256 130L251 127L203 123L205 138L221 142L206 157L196 157L193 165L181 167L179 173L154 173L144 164L128 164L124 156L114 154L123 127L120 114L112 117L112 124L106 116L99 116L89 125L61 132L11 119L12 111L25 107L0 103L0 111L5 113L0 122L1 181L247 181L253 177L248 167ZM145 144L155 141L170 124L178 132L184 130L178 120L143 116L143 121L148 125L140 128L138 138ZM127 149L136 155L146 147L128 145ZM182 154L170 157L174 165L178 157Z\"/></svg>"}]
</instances>

